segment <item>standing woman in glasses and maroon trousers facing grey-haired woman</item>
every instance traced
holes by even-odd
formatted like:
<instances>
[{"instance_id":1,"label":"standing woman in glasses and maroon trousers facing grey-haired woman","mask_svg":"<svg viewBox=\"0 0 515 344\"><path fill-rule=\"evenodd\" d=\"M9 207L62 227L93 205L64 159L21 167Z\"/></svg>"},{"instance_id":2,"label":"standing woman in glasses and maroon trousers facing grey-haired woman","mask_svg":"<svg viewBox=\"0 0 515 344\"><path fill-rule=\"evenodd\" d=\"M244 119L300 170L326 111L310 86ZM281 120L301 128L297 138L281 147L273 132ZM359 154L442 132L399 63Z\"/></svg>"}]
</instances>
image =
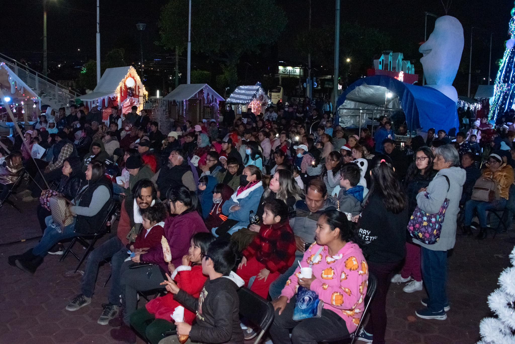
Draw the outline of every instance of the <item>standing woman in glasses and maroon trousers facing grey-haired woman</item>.
<instances>
[{"instance_id":1,"label":"standing woman in glasses and maroon trousers facing grey-haired woman","mask_svg":"<svg viewBox=\"0 0 515 344\"><path fill-rule=\"evenodd\" d=\"M409 165L404 179L404 191L408 197L408 213L413 214L417 207L418 191L427 187L436 175L433 169L435 156L429 147L419 148L414 156L414 161ZM407 234L407 233L406 233ZM409 282L411 279L413 281ZM406 260L401 273L397 273L391 279L393 283L409 282L402 289L406 293L422 290L422 269L420 266L420 246L413 243L413 238L406 235Z\"/></svg>"}]
</instances>

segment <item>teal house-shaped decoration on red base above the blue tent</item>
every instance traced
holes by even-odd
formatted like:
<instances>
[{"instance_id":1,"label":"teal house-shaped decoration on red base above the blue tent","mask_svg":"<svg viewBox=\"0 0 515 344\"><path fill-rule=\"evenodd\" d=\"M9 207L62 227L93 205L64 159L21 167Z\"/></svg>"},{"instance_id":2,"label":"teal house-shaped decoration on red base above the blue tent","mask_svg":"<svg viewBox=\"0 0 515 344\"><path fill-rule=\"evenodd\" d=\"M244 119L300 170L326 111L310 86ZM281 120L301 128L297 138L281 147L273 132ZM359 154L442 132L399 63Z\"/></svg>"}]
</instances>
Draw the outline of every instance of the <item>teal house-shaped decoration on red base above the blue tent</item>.
<instances>
[{"instance_id":1,"label":"teal house-shaped decoration on red base above the blue tent","mask_svg":"<svg viewBox=\"0 0 515 344\"><path fill-rule=\"evenodd\" d=\"M404 60L404 54L392 53L391 50L383 51L379 58L374 59L374 69L367 70L367 76L373 75L388 75L408 83L418 82L413 63Z\"/></svg>"}]
</instances>

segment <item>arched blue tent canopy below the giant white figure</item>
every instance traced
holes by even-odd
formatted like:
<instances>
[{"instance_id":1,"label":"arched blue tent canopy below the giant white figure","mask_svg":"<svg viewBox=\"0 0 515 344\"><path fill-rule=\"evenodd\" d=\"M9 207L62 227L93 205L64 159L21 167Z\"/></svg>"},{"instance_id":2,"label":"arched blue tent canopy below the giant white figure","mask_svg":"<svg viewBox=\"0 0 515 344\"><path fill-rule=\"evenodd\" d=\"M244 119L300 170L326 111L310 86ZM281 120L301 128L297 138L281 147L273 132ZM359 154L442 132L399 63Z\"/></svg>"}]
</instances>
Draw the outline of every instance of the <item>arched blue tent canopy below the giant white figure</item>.
<instances>
[{"instance_id":1,"label":"arched blue tent canopy below the giant white figure","mask_svg":"<svg viewBox=\"0 0 515 344\"><path fill-rule=\"evenodd\" d=\"M396 98L391 104L397 104L404 111L408 130L427 131L435 128L449 132L459 128L456 103L451 98L431 87L409 84L385 75L361 78L352 83L338 97L336 109L359 108L361 105L369 109L383 109L385 92L391 92ZM336 124L339 123L338 110L337 116Z\"/></svg>"}]
</instances>

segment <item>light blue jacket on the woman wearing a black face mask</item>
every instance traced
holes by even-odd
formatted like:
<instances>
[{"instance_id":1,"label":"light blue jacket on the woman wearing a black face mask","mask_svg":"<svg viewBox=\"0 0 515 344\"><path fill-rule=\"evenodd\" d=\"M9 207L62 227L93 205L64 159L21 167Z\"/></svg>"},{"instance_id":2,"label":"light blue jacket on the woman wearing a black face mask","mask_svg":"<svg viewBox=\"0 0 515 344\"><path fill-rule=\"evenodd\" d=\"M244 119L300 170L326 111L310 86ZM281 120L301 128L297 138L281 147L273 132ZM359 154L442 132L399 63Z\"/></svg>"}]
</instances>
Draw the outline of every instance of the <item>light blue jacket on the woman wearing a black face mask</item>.
<instances>
[{"instance_id":1,"label":"light blue jacket on the woman wearing a black face mask","mask_svg":"<svg viewBox=\"0 0 515 344\"><path fill-rule=\"evenodd\" d=\"M229 219L238 221L233 228L238 226L239 228L248 226L249 213L251 210L254 211L254 214L258 211L258 205L263 192L263 183L258 182L239 195L236 195L236 191L231 198L222 205L222 213L227 215ZM230 211L233 205L239 205L240 209L234 212ZM229 234L232 233L233 232L229 231Z\"/></svg>"}]
</instances>

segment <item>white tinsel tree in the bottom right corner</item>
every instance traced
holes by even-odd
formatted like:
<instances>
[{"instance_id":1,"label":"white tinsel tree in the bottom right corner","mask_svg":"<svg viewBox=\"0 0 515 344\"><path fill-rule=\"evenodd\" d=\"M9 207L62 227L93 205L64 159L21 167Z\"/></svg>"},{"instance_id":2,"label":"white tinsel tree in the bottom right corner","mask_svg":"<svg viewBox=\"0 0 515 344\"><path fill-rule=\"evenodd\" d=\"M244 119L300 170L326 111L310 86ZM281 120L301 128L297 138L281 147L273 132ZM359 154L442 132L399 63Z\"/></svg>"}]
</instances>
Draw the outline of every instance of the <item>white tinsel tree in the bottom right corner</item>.
<instances>
[{"instance_id":1,"label":"white tinsel tree in the bottom right corner","mask_svg":"<svg viewBox=\"0 0 515 344\"><path fill-rule=\"evenodd\" d=\"M515 247L510 253L515 265ZM515 343L515 267L507 267L499 276L498 289L488 297L490 309L497 318L484 318L479 324L482 340L477 344Z\"/></svg>"}]
</instances>

